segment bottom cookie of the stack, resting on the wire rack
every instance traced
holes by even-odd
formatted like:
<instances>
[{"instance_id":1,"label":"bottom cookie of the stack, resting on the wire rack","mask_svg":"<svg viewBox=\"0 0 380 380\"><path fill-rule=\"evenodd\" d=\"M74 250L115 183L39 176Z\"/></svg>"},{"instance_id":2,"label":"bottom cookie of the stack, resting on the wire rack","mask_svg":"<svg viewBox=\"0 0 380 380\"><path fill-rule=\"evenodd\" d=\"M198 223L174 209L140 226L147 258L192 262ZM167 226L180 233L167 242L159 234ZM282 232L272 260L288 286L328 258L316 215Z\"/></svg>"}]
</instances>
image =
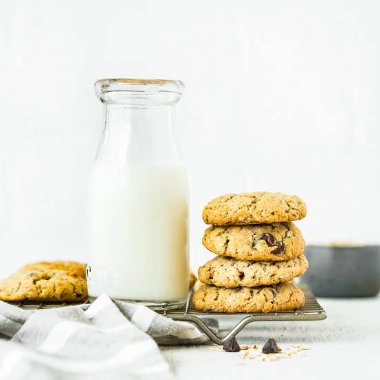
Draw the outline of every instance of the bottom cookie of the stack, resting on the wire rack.
<instances>
[{"instance_id":1,"label":"bottom cookie of the stack, resting on the wire rack","mask_svg":"<svg viewBox=\"0 0 380 380\"><path fill-rule=\"evenodd\" d=\"M195 292L193 304L205 312L268 313L299 309L305 305L305 295L289 283L234 288L204 284Z\"/></svg>"}]
</instances>

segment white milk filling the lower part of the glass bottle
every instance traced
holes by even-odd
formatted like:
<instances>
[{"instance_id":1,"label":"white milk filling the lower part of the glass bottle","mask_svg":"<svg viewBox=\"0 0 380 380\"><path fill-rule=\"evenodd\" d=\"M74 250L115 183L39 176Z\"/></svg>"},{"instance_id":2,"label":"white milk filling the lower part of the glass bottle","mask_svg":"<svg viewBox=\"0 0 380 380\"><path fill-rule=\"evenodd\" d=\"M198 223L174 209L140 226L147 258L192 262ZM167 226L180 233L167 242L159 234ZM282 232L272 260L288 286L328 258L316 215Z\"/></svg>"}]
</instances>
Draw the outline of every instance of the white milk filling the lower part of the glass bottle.
<instances>
[{"instance_id":1,"label":"white milk filling the lower part of the glass bottle","mask_svg":"<svg viewBox=\"0 0 380 380\"><path fill-rule=\"evenodd\" d=\"M183 167L96 162L88 188L88 294L186 298L187 212Z\"/></svg>"}]
</instances>

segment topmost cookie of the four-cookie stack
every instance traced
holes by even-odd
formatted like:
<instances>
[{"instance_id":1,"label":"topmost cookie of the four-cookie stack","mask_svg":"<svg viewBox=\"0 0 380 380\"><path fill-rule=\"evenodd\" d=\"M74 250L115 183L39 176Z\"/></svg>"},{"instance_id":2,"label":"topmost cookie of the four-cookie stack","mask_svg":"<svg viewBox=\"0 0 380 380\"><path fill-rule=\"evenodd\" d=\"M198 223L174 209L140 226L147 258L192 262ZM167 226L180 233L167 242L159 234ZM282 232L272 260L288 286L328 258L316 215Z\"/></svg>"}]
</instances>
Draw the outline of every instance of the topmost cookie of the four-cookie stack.
<instances>
[{"instance_id":1,"label":"topmost cookie of the four-cookie stack","mask_svg":"<svg viewBox=\"0 0 380 380\"><path fill-rule=\"evenodd\" d=\"M227 194L211 200L203 209L207 225L254 225L291 222L305 218L306 205L298 196L283 193Z\"/></svg>"}]
</instances>

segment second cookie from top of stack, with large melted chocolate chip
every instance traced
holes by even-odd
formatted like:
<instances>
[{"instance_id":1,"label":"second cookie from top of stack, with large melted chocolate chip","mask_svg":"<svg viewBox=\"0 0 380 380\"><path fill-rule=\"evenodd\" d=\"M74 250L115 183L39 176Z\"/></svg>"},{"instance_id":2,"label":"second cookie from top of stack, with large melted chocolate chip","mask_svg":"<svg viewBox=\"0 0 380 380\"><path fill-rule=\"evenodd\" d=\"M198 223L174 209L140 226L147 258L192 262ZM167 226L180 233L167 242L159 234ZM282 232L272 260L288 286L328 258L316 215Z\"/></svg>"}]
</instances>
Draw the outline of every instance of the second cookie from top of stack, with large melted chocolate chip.
<instances>
[{"instance_id":1,"label":"second cookie from top of stack, with large melted chocolate chip","mask_svg":"<svg viewBox=\"0 0 380 380\"><path fill-rule=\"evenodd\" d=\"M240 260L289 260L305 249L301 231L292 222L211 226L206 229L202 243L214 254Z\"/></svg>"}]
</instances>

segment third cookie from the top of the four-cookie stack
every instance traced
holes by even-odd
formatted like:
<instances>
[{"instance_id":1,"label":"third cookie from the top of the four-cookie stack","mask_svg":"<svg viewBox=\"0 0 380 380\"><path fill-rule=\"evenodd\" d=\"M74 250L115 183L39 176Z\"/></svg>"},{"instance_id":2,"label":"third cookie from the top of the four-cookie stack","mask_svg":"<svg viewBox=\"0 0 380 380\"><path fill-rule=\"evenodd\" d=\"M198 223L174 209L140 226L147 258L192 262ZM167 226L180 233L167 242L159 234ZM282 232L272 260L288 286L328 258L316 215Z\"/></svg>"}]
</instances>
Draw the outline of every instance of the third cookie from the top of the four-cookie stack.
<instances>
[{"instance_id":1,"label":"third cookie from the top of the four-cookie stack","mask_svg":"<svg viewBox=\"0 0 380 380\"><path fill-rule=\"evenodd\" d=\"M286 261L236 260L217 256L199 268L200 281L221 287L258 286L285 283L307 270L304 255Z\"/></svg>"}]
</instances>

